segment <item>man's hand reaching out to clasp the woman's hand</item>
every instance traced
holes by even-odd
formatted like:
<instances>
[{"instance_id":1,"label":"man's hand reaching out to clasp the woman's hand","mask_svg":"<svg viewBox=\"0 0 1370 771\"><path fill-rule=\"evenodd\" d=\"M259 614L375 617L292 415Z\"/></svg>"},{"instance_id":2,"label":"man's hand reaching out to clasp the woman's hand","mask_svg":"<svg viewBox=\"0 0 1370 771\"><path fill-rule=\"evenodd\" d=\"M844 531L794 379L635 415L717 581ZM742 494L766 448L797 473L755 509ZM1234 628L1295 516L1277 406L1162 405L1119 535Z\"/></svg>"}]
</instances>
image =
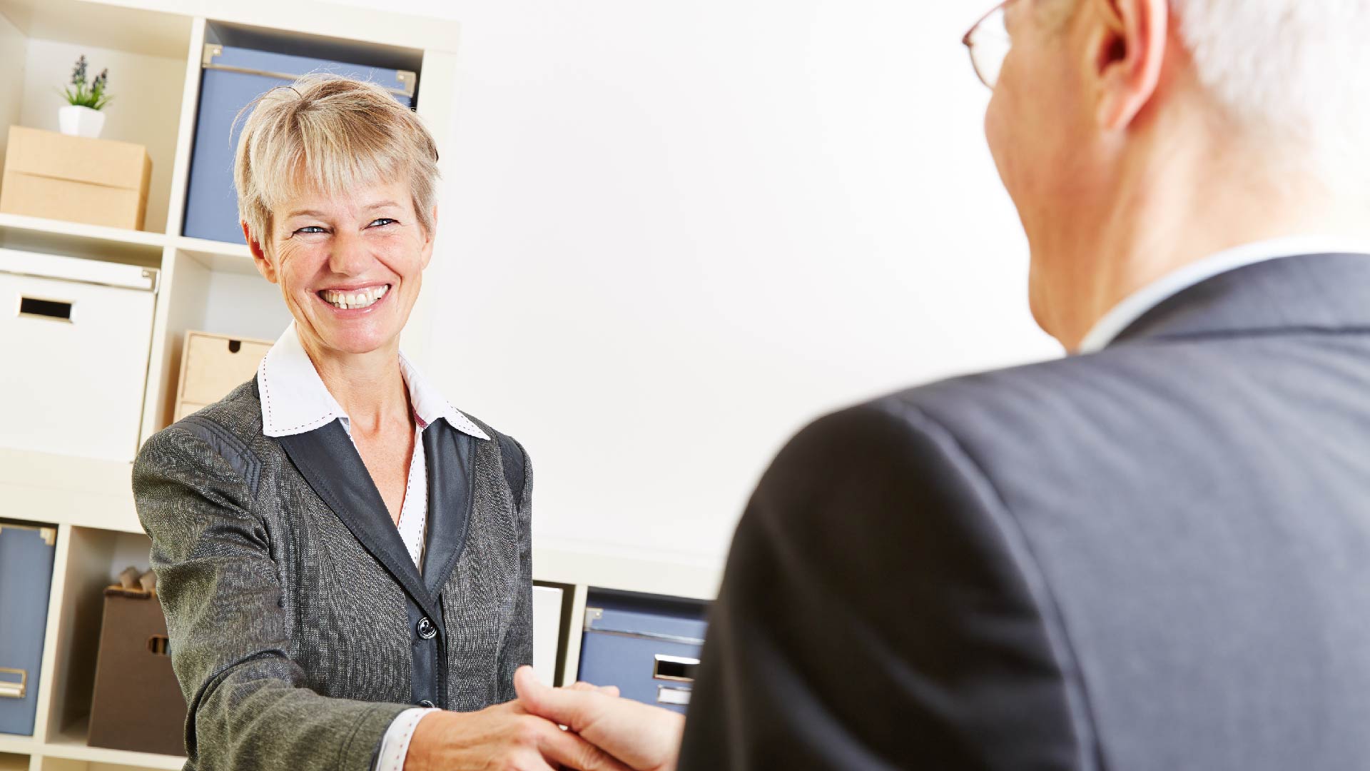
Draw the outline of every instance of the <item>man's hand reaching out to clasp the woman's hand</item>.
<instances>
[{"instance_id":1,"label":"man's hand reaching out to clasp the woman's hand","mask_svg":"<svg viewBox=\"0 0 1370 771\"><path fill-rule=\"evenodd\" d=\"M532 667L514 672L514 687L523 709L569 727L633 771L674 771L682 715L580 683L551 689L537 682Z\"/></svg>"}]
</instances>

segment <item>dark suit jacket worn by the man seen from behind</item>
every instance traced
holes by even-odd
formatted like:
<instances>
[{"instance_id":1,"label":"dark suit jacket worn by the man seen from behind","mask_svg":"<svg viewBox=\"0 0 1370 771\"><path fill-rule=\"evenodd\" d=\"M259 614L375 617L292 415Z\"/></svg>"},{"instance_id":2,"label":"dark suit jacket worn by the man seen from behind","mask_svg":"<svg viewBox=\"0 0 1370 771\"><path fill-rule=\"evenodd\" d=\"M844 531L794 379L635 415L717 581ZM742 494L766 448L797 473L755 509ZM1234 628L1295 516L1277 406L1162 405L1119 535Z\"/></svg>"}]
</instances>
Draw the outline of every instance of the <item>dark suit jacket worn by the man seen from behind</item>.
<instances>
[{"instance_id":1,"label":"dark suit jacket worn by the man seen from behind","mask_svg":"<svg viewBox=\"0 0 1370 771\"><path fill-rule=\"evenodd\" d=\"M806 428L681 767L1370 768L1370 257Z\"/></svg>"}]
</instances>

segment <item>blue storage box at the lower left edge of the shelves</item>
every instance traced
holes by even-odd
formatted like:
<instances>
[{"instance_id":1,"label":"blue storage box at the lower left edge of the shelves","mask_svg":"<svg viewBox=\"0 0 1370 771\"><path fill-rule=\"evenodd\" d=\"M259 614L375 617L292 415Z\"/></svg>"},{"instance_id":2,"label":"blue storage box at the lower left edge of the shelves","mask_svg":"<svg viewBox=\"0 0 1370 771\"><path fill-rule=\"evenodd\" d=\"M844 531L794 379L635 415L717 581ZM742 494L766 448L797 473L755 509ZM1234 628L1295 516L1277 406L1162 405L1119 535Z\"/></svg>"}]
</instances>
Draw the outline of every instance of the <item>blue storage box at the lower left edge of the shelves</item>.
<instances>
[{"instance_id":1,"label":"blue storage box at the lower left edge of the shelves","mask_svg":"<svg viewBox=\"0 0 1370 771\"><path fill-rule=\"evenodd\" d=\"M0 733L33 735L56 527L0 521Z\"/></svg>"}]
</instances>

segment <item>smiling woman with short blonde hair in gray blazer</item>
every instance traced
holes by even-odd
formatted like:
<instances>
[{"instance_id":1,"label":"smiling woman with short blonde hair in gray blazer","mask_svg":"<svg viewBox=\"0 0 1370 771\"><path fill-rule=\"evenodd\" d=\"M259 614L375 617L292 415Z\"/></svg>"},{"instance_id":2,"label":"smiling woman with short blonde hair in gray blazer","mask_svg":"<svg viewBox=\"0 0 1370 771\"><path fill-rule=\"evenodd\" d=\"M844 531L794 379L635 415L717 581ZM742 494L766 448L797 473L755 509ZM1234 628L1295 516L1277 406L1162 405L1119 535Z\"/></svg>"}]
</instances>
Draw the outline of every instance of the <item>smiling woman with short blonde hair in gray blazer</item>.
<instances>
[{"instance_id":1,"label":"smiling woman with short blonde hair in gray blazer","mask_svg":"<svg viewBox=\"0 0 1370 771\"><path fill-rule=\"evenodd\" d=\"M527 455L399 348L433 257L433 137L347 78L251 108L238 211L293 321L256 377L153 435L133 469L186 768L586 757L501 704L532 660Z\"/></svg>"}]
</instances>

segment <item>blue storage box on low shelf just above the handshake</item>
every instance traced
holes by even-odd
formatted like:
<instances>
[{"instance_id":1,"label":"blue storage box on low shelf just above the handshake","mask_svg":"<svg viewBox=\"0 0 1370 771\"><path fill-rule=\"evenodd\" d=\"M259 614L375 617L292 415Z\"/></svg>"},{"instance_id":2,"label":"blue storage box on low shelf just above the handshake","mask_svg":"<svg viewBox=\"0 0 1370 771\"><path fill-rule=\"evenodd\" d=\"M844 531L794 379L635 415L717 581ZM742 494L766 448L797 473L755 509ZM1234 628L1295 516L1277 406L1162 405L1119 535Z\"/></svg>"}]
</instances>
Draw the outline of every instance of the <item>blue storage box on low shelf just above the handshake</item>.
<instances>
[{"instance_id":1,"label":"blue storage box on low shelf just above the handshake","mask_svg":"<svg viewBox=\"0 0 1370 771\"><path fill-rule=\"evenodd\" d=\"M685 712L708 628L707 602L592 591L578 679L625 698Z\"/></svg>"}]
</instances>

